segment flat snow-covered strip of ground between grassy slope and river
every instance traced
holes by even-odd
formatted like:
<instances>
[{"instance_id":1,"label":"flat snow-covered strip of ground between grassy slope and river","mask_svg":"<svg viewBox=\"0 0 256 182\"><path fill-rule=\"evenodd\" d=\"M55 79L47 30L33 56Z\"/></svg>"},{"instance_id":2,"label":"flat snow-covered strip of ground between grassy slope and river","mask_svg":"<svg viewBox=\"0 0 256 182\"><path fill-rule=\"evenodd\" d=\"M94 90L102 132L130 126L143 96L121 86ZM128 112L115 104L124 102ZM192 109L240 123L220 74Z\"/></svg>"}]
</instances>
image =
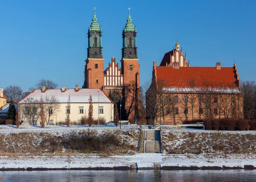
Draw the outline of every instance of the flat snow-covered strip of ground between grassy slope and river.
<instances>
[{"instance_id":1,"label":"flat snow-covered strip of ground between grassy slope and river","mask_svg":"<svg viewBox=\"0 0 256 182\"><path fill-rule=\"evenodd\" d=\"M76 156L28 156L0 158L0 169L8 168L113 168L137 163L138 168L154 168L154 163L161 166L182 167L241 167L252 165L256 167L256 156L223 156L205 157L204 155L175 155L160 153L137 153L133 156L110 156L103 158L96 154L80 154Z\"/></svg>"}]
</instances>

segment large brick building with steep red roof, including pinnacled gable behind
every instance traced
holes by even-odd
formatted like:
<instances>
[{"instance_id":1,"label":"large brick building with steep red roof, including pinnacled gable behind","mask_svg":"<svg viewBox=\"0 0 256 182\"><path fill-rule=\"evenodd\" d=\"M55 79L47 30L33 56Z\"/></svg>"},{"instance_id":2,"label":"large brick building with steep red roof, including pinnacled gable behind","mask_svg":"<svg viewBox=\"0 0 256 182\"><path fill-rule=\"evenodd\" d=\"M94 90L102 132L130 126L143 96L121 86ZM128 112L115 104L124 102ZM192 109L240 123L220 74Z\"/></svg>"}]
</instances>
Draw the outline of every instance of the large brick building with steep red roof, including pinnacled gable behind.
<instances>
[{"instance_id":1,"label":"large brick building with steep red roof, including pinnacled gable behind","mask_svg":"<svg viewBox=\"0 0 256 182\"><path fill-rule=\"evenodd\" d=\"M215 67L193 67L187 62L186 54L182 55L178 42L175 46L176 49L164 55L160 66L153 64L151 86L155 84L162 94L152 100L149 91L153 91L148 89L148 111L149 102L161 99L153 103L159 104L154 120L162 124L182 124L192 119L241 118L242 96L236 64L221 67L217 62ZM152 119L148 113L148 120Z\"/></svg>"}]
</instances>

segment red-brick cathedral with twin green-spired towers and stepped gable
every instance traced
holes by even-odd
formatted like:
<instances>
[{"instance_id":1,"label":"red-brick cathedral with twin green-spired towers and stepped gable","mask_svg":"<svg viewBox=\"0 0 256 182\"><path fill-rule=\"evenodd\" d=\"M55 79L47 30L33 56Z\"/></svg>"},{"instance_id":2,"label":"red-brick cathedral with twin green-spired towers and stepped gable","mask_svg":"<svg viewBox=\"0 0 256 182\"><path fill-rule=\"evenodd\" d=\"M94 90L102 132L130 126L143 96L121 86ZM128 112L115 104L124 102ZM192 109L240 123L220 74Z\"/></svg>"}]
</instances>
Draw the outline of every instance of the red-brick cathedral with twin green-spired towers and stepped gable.
<instances>
[{"instance_id":1,"label":"red-brick cathedral with twin green-spired towers and stepped gable","mask_svg":"<svg viewBox=\"0 0 256 182\"><path fill-rule=\"evenodd\" d=\"M140 64L137 56L137 30L131 22L130 8L127 18L127 23L122 31L122 59L121 67L116 62L116 58L111 58L108 68L104 69L103 46L102 46L102 28L99 26L94 9L93 22L88 29L88 48L87 59L85 60L84 69L84 85L82 88L100 88L106 95L113 90L121 92L125 113L127 118L133 118L136 115L137 107L131 107L133 102L128 101L128 97L124 92L124 85L133 85L135 88L136 102L139 97L137 90L140 89ZM130 89L129 89L130 90ZM129 93L131 95L131 93ZM131 100L131 99L130 99ZM123 105L122 104L122 105ZM127 110L128 115L127 115ZM131 109L133 108L133 109ZM123 112L123 111L122 111ZM123 117L122 117L123 118Z\"/></svg>"}]
</instances>

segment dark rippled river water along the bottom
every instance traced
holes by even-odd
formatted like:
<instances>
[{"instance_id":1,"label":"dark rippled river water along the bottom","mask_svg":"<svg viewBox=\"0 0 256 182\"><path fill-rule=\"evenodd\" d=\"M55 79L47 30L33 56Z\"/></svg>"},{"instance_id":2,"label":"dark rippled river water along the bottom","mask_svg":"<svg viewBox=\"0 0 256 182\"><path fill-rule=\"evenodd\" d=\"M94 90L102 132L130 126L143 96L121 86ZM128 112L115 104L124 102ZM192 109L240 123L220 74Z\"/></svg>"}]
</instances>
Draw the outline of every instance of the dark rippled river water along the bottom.
<instances>
[{"instance_id":1,"label":"dark rippled river water along the bottom","mask_svg":"<svg viewBox=\"0 0 256 182\"><path fill-rule=\"evenodd\" d=\"M255 182L256 170L0 171L0 182Z\"/></svg>"}]
</instances>

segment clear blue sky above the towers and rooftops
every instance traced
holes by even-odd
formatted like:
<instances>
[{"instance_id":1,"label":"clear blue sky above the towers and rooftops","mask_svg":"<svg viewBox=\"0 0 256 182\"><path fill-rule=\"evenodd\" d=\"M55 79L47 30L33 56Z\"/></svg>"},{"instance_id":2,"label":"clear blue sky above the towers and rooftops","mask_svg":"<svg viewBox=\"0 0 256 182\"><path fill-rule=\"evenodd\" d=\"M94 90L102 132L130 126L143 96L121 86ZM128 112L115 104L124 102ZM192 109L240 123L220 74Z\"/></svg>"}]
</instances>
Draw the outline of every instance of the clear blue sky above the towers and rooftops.
<instances>
[{"instance_id":1,"label":"clear blue sky above the towers and rooftops","mask_svg":"<svg viewBox=\"0 0 256 182\"><path fill-rule=\"evenodd\" d=\"M121 59L122 28L131 8L137 27L141 84L150 81L153 61L175 46L191 66L231 67L242 81L255 81L256 1L0 1L0 87L24 91L41 78L81 87L87 58L87 29L96 7L102 25L105 67ZM78 79L78 80L76 80Z\"/></svg>"}]
</instances>

